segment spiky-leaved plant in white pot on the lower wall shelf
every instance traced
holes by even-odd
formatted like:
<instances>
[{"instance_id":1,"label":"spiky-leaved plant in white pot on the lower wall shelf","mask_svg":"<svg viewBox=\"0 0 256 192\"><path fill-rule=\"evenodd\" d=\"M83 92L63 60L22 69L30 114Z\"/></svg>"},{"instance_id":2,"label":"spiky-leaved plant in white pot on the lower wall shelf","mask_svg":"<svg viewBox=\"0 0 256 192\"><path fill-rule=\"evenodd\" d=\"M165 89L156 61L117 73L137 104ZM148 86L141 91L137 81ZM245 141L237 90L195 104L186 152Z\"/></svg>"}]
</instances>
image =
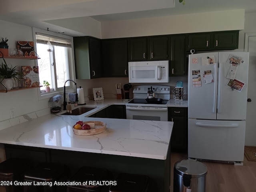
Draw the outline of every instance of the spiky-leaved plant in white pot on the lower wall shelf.
<instances>
[{"instance_id":1,"label":"spiky-leaved plant in white pot on the lower wall shelf","mask_svg":"<svg viewBox=\"0 0 256 192\"><path fill-rule=\"evenodd\" d=\"M22 75L16 67L17 66L12 67L12 65L8 66L5 60L4 63L2 62L0 65L0 83L4 85L7 90L12 89L13 80L19 80L19 76Z\"/></svg>"}]
</instances>

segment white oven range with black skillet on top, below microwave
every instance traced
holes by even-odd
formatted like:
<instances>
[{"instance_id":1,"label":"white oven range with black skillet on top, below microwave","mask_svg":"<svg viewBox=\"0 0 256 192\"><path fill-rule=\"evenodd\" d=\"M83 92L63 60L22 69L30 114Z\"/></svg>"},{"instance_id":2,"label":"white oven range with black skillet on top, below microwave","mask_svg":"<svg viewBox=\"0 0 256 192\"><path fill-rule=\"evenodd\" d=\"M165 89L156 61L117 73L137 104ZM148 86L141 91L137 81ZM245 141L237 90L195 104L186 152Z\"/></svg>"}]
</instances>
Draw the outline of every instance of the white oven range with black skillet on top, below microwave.
<instances>
[{"instance_id":1,"label":"white oven range with black skillet on top, below microwave","mask_svg":"<svg viewBox=\"0 0 256 192\"><path fill-rule=\"evenodd\" d=\"M146 101L148 88L154 89L155 98L161 102ZM170 86L140 85L133 87L134 98L126 104L126 118L136 120L168 121L167 103L170 100Z\"/></svg>"}]
</instances>

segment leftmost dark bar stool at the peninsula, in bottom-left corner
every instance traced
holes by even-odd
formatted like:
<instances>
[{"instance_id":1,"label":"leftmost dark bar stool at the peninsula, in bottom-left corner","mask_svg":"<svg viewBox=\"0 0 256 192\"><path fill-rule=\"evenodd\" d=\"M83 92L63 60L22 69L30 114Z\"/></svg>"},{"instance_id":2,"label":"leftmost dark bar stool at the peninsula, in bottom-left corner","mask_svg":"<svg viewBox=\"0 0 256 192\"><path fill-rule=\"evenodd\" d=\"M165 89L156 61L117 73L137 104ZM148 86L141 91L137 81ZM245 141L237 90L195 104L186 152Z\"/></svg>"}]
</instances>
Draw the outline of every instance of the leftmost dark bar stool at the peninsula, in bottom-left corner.
<instances>
[{"instance_id":1,"label":"leftmost dark bar stool at the peninsula, in bottom-left corner","mask_svg":"<svg viewBox=\"0 0 256 192\"><path fill-rule=\"evenodd\" d=\"M0 163L0 181L12 182L6 186L6 192L22 190L20 186L14 186L14 181L23 181L24 173L32 168L32 162L20 158L10 158Z\"/></svg>"}]
</instances>

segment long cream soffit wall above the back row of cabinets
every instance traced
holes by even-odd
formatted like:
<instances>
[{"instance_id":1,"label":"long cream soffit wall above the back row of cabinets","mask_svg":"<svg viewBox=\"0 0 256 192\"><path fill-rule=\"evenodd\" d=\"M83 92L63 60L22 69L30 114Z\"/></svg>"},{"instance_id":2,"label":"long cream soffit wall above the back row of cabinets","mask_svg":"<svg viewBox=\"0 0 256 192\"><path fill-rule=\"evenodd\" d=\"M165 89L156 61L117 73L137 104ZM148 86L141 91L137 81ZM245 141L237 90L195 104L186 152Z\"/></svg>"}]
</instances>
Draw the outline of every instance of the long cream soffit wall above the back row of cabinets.
<instances>
[{"instance_id":1,"label":"long cream soffit wall above the back row of cabinets","mask_svg":"<svg viewBox=\"0 0 256 192\"><path fill-rule=\"evenodd\" d=\"M242 30L244 29L244 10L102 22L101 28L103 39Z\"/></svg>"}]
</instances>

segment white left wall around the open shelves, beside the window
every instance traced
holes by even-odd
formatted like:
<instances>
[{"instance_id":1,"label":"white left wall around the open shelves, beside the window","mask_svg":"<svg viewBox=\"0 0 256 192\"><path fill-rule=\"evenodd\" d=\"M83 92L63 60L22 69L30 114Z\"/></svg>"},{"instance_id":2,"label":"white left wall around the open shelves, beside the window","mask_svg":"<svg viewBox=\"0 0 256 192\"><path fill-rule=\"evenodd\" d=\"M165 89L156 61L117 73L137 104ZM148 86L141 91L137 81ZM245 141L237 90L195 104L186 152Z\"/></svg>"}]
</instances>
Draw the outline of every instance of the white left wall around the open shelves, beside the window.
<instances>
[{"instance_id":1,"label":"white left wall around the open shelves, beside the window","mask_svg":"<svg viewBox=\"0 0 256 192\"><path fill-rule=\"evenodd\" d=\"M16 41L32 41L32 28L0 20L0 37L9 39L9 48L16 48ZM0 63L2 63L0 59ZM17 66L34 66L34 60L25 59L6 59L7 64ZM15 115L28 114L44 108L48 108L48 100L38 100L37 88L28 90L19 90L7 93L0 93L0 122L10 119L10 109L15 110Z\"/></svg>"}]
</instances>

